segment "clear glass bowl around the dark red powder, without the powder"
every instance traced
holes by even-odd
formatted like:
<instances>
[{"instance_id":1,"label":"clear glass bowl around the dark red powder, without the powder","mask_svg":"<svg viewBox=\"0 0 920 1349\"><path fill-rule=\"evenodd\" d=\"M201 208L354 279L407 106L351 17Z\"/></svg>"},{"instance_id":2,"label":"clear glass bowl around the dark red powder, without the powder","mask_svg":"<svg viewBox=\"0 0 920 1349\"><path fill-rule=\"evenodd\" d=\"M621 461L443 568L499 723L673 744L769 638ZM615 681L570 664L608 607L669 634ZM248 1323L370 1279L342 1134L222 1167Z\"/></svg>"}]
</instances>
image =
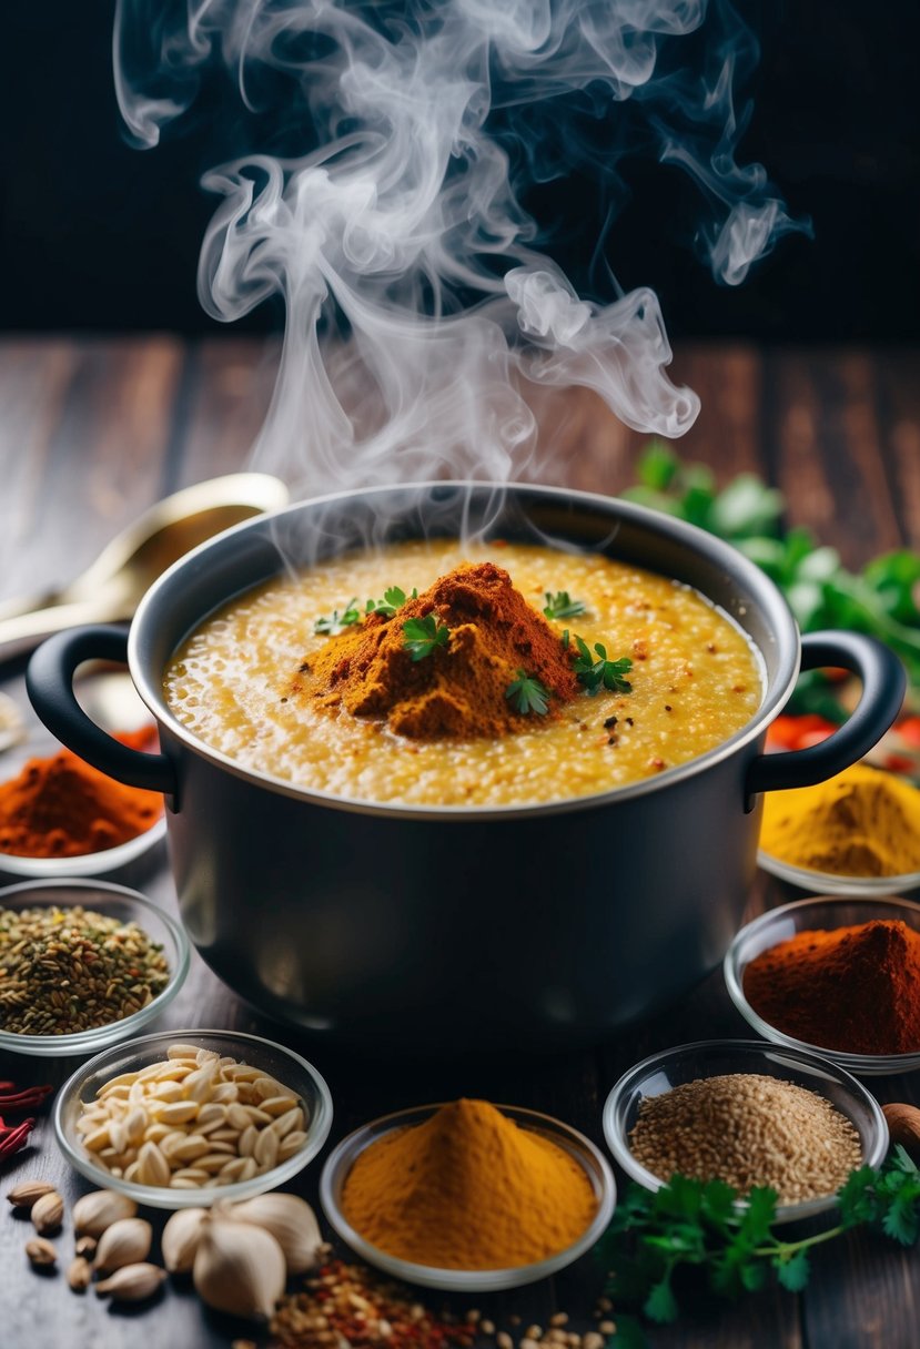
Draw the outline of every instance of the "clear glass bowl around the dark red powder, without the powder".
<instances>
[{"instance_id":1,"label":"clear glass bowl around the dark red powder, without the powder","mask_svg":"<svg viewBox=\"0 0 920 1349\"><path fill-rule=\"evenodd\" d=\"M815 928L832 931L839 927L851 927L861 923L871 923L878 919L900 919L920 932L920 904L912 900L901 900L896 896L888 898L847 900L832 896L815 896L809 900L795 900L784 904L778 909L769 909L753 923L741 929L735 940L728 947L724 958L723 973L728 996L735 1004L749 1025L762 1035L765 1040L774 1044L784 1044L790 1050L808 1050L820 1054L826 1059L834 1059L840 1067L858 1077L874 1077L890 1072L915 1072L920 1068L920 1050L912 1054L849 1054L843 1050L831 1050L822 1044L809 1044L805 1040L796 1040L765 1021L745 997L745 970L753 959L761 955L778 942L788 942L796 932L805 932Z\"/></svg>"}]
</instances>

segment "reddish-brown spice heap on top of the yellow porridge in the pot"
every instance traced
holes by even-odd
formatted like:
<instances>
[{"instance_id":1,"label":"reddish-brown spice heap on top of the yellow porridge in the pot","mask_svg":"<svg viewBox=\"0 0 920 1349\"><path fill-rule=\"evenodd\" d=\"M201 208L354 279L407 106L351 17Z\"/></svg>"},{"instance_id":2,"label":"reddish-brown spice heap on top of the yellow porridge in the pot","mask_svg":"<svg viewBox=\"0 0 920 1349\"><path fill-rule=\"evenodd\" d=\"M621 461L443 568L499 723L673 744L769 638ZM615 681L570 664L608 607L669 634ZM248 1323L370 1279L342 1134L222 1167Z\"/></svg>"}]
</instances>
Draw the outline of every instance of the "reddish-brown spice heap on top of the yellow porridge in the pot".
<instances>
[{"instance_id":1,"label":"reddish-brown spice heap on top of the yellow porridge in the pot","mask_svg":"<svg viewBox=\"0 0 920 1349\"><path fill-rule=\"evenodd\" d=\"M433 614L451 635L413 661L407 619ZM558 633L494 563L464 563L395 615L371 614L329 638L294 683L325 707L353 716L384 716L398 735L465 739L506 735L541 720L506 697L519 670L553 695L548 715L575 697L579 681Z\"/></svg>"}]
</instances>

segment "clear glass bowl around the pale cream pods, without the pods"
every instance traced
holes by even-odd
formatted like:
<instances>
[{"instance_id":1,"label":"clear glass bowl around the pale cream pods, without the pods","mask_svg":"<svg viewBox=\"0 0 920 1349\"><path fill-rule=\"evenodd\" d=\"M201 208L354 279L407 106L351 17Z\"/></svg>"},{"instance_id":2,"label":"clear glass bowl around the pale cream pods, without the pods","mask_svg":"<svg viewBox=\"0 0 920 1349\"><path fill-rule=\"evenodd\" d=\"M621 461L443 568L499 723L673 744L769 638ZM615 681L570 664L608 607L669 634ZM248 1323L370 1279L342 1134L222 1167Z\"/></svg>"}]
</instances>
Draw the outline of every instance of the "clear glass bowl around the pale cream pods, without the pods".
<instances>
[{"instance_id":1,"label":"clear glass bowl around the pale cream pods, without the pods","mask_svg":"<svg viewBox=\"0 0 920 1349\"><path fill-rule=\"evenodd\" d=\"M240 1180L235 1184L200 1186L196 1190L171 1190L166 1186L140 1184L113 1176L111 1171L93 1160L93 1155L82 1145L77 1133L77 1120L81 1103L89 1103L96 1093L121 1072L135 1072L166 1058L171 1044L194 1044L201 1050L213 1050L260 1068L290 1089L306 1114L306 1143L304 1147L263 1175ZM144 1035L115 1050L97 1054L70 1077L58 1091L54 1102L54 1133L65 1157L82 1176L94 1186L117 1190L138 1203L151 1209L208 1207L217 1199L251 1199L256 1194L274 1190L295 1176L308 1161L312 1161L332 1128L332 1097L329 1087L312 1063L293 1050L286 1050L272 1040L258 1035L243 1035L236 1031L169 1031L158 1035ZM229 1157L228 1157L229 1160Z\"/></svg>"}]
</instances>

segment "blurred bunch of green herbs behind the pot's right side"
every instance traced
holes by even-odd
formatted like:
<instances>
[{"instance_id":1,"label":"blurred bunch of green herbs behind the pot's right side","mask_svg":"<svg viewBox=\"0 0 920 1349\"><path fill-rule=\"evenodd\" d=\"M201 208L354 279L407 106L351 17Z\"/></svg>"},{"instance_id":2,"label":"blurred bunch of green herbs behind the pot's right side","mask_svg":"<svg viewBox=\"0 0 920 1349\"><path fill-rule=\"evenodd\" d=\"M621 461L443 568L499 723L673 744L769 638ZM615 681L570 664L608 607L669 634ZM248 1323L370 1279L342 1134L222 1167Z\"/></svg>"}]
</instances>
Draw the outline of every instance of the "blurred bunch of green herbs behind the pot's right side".
<instances>
[{"instance_id":1,"label":"blurred bunch of green herbs behind the pot's right side","mask_svg":"<svg viewBox=\"0 0 920 1349\"><path fill-rule=\"evenodd\" d=\"M684 464L661 441L638 463L638 484L623 495L728 540L776 581L805 633L850 629L886 642L904 661L920 700L920 553L897 549L861 572L843 567L834 548L808 529L785 529L782 492L754 473L741 473L719 491L708 468ZM842 720L820 673L800 680L793 711Z\"/></svg>"}]
</instances>

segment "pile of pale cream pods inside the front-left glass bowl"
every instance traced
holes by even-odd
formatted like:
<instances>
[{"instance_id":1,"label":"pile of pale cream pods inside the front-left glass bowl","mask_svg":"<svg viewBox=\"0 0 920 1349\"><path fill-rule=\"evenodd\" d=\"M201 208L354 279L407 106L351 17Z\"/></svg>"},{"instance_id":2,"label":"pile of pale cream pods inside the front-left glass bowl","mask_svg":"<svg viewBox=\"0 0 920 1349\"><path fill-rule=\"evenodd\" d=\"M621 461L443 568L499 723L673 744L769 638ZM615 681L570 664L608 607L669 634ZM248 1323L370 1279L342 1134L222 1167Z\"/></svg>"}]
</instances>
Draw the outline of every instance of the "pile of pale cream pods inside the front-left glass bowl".
<instances>
[{"instance_id":1,"label":"pile of pale cream pods inside the front-left glass bowl","mask_svg":"<svg viewBox=\"0 0 920 1349\"><path fill-rule=\"evenodd\" d=\"M260 1068L194 1044L104 1083L77 1120L113 1176L198 1190L270 1171L306 1143L306 1106Z\"/></svg>"}]
</instances>

